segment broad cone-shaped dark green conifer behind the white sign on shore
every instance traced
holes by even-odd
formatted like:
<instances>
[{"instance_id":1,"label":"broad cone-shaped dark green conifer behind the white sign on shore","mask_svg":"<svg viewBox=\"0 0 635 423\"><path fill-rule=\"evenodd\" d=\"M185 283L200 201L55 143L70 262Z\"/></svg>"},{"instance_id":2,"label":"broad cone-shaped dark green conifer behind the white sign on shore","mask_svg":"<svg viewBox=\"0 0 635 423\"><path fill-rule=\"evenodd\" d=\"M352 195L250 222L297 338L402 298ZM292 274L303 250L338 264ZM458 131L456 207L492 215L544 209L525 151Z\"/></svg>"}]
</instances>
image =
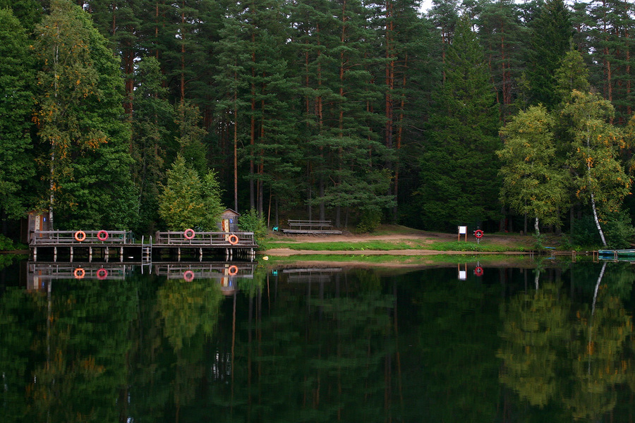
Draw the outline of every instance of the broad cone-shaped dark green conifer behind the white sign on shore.
<instances>
[{"instance_id":1,"label":"broad cone-shaped dark green conifer behind the white sign on shore","mask_svg":"<svg viewBox=\"0 0 635 423\"><path fill-rule=\"evenodd\" d=\"M448 49L445 75L416 192L423 227L435 229L498 216L497 105L483 50L466 16Z\"/></svg>"}]
</instances>

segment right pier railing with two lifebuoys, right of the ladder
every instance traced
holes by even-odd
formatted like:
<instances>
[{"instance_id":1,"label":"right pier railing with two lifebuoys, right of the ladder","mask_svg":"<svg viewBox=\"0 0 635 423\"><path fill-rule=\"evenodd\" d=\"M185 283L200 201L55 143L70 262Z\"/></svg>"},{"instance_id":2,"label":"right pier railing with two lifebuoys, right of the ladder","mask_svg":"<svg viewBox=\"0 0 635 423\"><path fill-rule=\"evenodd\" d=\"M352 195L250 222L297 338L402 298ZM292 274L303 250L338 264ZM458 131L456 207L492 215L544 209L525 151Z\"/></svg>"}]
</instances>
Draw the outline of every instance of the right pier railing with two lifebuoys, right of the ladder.
<instances>
[{"instance_id":1,"label":"right pier railing with two lifebuoys, right of the ladder","mask_svg":"<svg viewBox=\"0 0 635 423\"><path fill-rule=\"evenodd\" d=\"M165 231L156 233L154 245L255 247L256 243L253 232L195 232L192 238L186 238L183 232Z\"/></svg>"}]
</instances>

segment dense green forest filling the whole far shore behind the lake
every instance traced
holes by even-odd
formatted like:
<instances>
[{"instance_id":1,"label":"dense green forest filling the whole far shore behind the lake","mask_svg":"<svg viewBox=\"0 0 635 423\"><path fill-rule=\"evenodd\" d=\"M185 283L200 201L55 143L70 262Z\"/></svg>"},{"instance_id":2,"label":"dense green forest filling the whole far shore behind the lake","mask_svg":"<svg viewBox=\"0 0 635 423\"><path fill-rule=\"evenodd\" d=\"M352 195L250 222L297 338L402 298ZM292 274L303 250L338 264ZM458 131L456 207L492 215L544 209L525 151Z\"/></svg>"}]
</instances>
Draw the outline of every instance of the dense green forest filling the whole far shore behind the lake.
<instances>
[{"instance_id":1,"label":"dense green forest filling the whole far shore behind the lake","mask_svg":"<svg viewBox=\"0 0 635 423\"><path fill-rule=\"evenodd\" d=\"M0 221L629 245L631 0L0 0Z\"/></svg>"}]
</instances>

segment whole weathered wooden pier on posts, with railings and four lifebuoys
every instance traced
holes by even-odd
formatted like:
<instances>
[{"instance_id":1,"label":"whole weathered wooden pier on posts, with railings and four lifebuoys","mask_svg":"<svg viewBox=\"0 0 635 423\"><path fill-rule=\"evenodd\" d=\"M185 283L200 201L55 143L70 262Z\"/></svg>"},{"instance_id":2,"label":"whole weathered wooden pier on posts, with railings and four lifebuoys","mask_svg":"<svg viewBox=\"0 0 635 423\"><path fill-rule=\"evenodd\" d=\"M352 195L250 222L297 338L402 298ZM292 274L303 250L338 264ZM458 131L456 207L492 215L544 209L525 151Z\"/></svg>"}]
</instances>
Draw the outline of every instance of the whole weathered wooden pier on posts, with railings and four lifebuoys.
<instances>
[{"instance_id":1,"label":"whole weathered wooden pier on posts, with railings and four lifebuoys","mask_svg":"<svg viewBox=\"0 0 635 423\"><path fill-rule=\"evenodd\" d=\"M171 257L181 261L181 257L195 257L202 261L203 255L224 255L229 260L234 257L253 258L255 243L253 232L157 232L155 237L135 239L129 231L33 231L29 240L31 257L37 262L38 255L53 257L57 262L73 262L75 259L111 259L124 262L133 259L144 263L153 257Z\"/></svg>"}]
</instances>

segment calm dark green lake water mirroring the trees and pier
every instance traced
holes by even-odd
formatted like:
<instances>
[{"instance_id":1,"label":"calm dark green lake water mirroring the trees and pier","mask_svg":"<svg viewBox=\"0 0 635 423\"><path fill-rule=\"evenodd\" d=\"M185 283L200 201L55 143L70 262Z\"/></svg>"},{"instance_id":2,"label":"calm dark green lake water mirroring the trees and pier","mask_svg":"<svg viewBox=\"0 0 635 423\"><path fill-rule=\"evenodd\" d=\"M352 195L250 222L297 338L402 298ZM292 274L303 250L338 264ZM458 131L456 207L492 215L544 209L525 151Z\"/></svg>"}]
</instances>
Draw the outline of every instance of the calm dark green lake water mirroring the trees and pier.
<instances>
[{"instance_id":1,"label":"calm dark green lake water mirroring the trees and pier","mask_svg":"<svg viewBox=\"0 0 635 423\"><path fill-rule=\"evenodd\" d=\"M0 422L633 421L633 264L476 266L14 262Z\"/></svg>"}]
</instances>

